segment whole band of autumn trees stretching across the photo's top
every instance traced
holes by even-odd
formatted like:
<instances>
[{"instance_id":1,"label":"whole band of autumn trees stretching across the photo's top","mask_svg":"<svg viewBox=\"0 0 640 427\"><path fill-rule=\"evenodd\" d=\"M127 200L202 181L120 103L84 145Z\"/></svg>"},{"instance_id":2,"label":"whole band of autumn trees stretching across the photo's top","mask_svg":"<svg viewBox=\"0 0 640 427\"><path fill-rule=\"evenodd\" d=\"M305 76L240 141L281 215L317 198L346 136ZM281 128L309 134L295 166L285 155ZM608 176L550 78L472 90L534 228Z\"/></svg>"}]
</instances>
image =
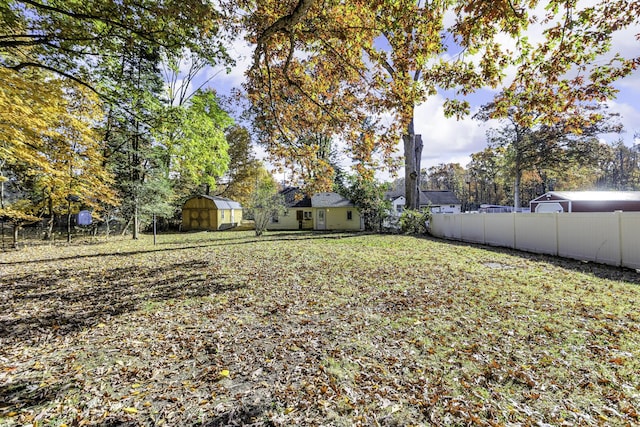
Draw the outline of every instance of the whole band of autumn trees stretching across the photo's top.
<instances>
[{"instance_id":1,"label":"whole band of autumn trees stretching across the photo's top","mask_svg":"<svg viewBox=\"0 0 640 427\"><path fill-rule=\"evenodd\" d=\"M190 194L249 200L269 179L252 139L308 192L340 173L336 141L362 188L398 166L402 141L416 207L429 141L415 107L445 93L461 117L480 88L500 88L481 113L510 123L491 149L515 159L518 188L532 159L589 153L599 105L640 62L610 51L640 19L628 0L0 0L0 12L0 216L14 229L86 208L137 238ZM201 77L235 65L238 38L254 47L250 130ZM527 144L548 153L529 158Z\"/></svg>"}]
</instances>

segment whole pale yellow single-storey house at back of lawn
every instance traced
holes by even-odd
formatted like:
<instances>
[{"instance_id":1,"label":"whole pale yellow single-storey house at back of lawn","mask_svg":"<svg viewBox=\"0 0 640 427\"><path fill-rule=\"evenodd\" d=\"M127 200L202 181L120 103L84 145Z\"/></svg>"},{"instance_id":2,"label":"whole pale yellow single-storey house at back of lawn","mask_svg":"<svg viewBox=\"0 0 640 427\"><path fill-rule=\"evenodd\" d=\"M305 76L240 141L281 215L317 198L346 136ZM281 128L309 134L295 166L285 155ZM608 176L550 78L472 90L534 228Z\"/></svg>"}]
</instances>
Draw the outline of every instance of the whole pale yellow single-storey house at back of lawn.
<instances>
[{"instance_id":1,"label":"whole pale yellow single-storey house at back of lawn","mask_svg":"<svg viewBox=\"0 0 640 427\"><path fill-rule=\"evenodd\" d=\"M299 188L287 187L280 192L286 211L271 219L269 230L363 230L364 221L358 208L348 199L333 192L306 196Z\"/></svg>"}]
</instances>

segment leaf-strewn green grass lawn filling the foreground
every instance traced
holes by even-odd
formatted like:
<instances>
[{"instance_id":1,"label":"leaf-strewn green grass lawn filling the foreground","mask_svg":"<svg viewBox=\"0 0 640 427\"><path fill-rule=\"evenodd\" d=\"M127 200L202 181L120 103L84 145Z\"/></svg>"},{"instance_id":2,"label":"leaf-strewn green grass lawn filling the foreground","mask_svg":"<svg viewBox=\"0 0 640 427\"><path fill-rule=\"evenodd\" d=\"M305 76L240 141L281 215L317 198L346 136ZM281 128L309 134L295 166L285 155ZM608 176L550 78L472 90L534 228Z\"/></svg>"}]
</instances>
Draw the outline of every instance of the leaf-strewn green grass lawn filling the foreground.
<instances>
[{"instance_id":1,"label":"leaf-strewn green grass lawn filling the foreground","mask_svg":"<svg viewBox=\"0 0 640 427\"><path fill-rule=\"evenodd\" d=\"M0 253L0 425L640 424L640 275L408 236Z\"/></svg>"}]
</instances>

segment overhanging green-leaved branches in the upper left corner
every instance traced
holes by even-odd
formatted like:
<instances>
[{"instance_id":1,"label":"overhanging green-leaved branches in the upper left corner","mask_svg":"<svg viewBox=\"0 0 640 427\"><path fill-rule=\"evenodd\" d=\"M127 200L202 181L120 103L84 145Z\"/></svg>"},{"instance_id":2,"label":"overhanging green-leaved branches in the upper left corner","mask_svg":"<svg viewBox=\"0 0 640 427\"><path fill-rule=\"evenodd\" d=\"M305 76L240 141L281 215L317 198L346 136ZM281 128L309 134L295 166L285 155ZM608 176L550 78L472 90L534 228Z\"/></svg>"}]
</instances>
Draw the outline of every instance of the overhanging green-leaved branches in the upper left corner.
<instances>
[{"instance_id":1,"label":"overhanging green-leaved branches in the upper left corner","mask_svg":"<svg viewBox=\"0 0 640 427\"><path fill-rule=\"evenodd\" d=\"M40 68L98 89L91 70L123 42L227 60L217 37L221 15L201 0L0 3L0 66ZM101 92L104 95L110 95Z\"/></svg>"}]
</instances>

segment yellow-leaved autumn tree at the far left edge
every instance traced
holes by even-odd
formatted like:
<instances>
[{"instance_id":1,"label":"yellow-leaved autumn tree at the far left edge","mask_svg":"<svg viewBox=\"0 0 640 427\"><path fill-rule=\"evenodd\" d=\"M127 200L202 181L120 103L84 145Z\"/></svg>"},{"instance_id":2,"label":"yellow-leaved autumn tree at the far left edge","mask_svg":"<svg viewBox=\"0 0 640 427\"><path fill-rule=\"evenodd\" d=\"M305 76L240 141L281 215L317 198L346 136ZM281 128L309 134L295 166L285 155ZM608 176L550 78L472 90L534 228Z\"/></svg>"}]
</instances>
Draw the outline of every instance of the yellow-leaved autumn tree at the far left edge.
<instances>
[{"instance_id":1,"label":"yellow-leaved autumn tree at the far left edge","mask_svg":"<svg viewBox=\"0 0 640 427\"><path fill-rule=\"evenodd\" d=\"M48 214L50 237L54 216L70 213L71 195L81 197L82 206L96 214L105 205L116 205L94 127L102 117L95 94L39 70L0 68L0 75L7 83L0 92L0 108L7 112L0 121L0 166L10 172L22 199L11 209L24 208L29 218ZM40 109L41 104L46 107Z\"/></svg>"}]
</instances>

